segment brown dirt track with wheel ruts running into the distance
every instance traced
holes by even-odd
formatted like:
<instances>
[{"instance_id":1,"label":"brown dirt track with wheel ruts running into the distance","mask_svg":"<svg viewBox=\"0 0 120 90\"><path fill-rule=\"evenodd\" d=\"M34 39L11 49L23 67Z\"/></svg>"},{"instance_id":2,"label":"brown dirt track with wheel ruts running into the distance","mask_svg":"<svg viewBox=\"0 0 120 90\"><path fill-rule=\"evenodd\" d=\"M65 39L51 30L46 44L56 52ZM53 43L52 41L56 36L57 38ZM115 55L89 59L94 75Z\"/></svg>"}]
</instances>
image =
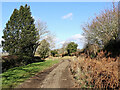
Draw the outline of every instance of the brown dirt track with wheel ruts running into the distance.
<instances>
[{"instance_id":1,"label":"brown dirt track with wheel ruts running into the distance","mask_svg":"<svg viewBox=\"0 0 120 90\"><path fill-rule=\"evenodd\" d=\"M36 74L17 88L71 88L74 83L69 71L69 60Z\"/></svg>"}]
</instances>

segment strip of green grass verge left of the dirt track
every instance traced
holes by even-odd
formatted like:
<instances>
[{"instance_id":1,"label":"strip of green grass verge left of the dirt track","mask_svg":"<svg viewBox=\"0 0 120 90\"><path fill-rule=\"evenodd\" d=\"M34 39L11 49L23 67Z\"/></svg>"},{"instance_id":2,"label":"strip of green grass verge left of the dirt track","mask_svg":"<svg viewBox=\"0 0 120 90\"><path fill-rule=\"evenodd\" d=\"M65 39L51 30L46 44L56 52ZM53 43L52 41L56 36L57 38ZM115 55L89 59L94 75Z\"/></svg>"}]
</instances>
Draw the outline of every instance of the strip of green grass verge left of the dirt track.
<instances>
[{"instance_id":1,"label":"strip of green grass verge left of the dirt track","mask_svg":"<svg viewBox=\"0 0 120 90\"><path fill-rule=\"evenodd\" d=\"M0 74L2 75L2 88L14 88L26 79L34 76L37 72L47 69L58 62L59 60L46 60L45 62L37 62L9 69Z\"/></svg>"}]
</instances>

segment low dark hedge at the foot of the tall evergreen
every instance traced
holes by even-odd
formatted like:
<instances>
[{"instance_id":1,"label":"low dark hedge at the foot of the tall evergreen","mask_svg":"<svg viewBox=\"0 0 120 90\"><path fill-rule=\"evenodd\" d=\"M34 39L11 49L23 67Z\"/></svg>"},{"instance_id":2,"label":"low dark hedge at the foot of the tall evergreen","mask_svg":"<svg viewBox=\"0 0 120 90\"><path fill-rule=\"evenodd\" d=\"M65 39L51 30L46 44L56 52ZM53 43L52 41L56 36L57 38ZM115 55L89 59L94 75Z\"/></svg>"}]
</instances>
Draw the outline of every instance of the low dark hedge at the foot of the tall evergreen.
<instances>
[{"instance_id":1,"label":"low dark hedge at the foot of the tall evergreen","mask_svg":"<svg viewBox=\"0 0 120 90\"><path fill-rule=\"evenodd\" d=\"M2 56L2 72L13 67L27 65L32 62L34 61L29 56L20 56L20 55Z\"/></svg>"}]
</instances>

